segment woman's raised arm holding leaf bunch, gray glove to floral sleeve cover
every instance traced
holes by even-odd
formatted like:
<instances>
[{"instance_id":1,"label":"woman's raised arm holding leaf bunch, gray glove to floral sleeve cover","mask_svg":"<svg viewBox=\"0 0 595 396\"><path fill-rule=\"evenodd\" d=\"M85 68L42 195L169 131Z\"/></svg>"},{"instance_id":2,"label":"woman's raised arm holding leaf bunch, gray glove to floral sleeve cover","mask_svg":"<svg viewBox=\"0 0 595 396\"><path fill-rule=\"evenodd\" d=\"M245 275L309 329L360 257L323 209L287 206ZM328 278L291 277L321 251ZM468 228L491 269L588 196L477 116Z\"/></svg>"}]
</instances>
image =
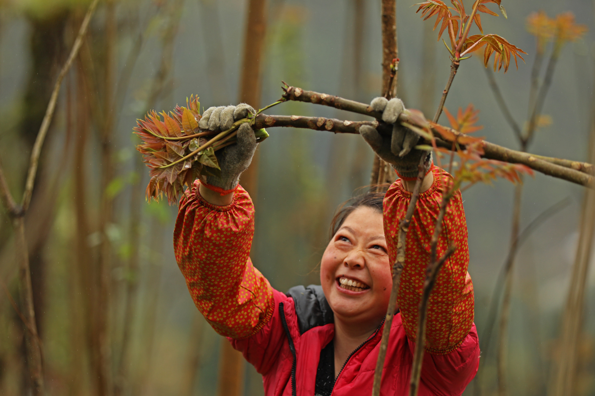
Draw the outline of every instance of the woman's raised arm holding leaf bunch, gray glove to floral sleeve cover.
<instances>
[{"instance_id":1,"label":"woman's raised arm holding leaf bunch, gray glove to floral sleeve cover","mask_svg":"<svg viewBox=\"0 0 595 396\"><path fill-rule=\"evenodd\" d=\"M248 112L254 110L245 104L209 108L199 127L226 130ZM184 193L174 230L176 260L196 307L234 339L256 334L274 311L273 288L250 261L254 206L238 184L255 149L252 128L242 124L237 143L216 153L220 177L196 180Z\"/></svg>"}]
</instances>

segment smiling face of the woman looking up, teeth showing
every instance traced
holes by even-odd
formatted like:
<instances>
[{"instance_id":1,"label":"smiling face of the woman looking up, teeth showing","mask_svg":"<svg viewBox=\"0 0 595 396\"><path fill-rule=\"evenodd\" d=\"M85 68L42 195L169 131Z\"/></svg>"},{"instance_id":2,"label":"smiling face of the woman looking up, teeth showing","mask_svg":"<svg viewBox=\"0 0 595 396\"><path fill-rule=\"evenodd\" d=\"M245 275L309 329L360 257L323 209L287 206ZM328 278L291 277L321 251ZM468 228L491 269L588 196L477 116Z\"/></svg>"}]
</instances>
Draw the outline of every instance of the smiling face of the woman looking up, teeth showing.
<instances>
[{"instance_id":1,"label":"smiling face of the woman looking up, teeth showing","mask_svg":"<svg viewBox=\"0 0 595 396\"><path fill-rule=\"evenodd\" d=\"M380 324L392 287L381 213L360 206L347 216L322 255L320 281L340 320Z\"/></svg>"}]
</instances>

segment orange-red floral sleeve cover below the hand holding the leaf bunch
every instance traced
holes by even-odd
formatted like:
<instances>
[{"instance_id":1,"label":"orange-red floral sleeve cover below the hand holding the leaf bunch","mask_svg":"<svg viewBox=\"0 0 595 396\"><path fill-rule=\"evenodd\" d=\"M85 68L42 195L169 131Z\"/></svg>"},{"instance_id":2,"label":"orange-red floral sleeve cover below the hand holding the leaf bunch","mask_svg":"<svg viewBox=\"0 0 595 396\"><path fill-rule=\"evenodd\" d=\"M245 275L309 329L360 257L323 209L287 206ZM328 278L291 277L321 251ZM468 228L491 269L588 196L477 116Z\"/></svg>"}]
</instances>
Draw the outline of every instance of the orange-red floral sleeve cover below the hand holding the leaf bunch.
<instances>
[{"instance_id":1,"label":"orange-red floral sleeve cover below the hand holding the leaf bunch","mask_svg":"<svg viewBox=\"0 0 595 396\"><path fill-rule=\"evenodd\" d=\"M254 205L239 187L227 206L206 202L196 180L180 200L174 251L196 307L219 334L256 334L274 310L273 288L249 253Z\"/></svg>"}]
</instances>

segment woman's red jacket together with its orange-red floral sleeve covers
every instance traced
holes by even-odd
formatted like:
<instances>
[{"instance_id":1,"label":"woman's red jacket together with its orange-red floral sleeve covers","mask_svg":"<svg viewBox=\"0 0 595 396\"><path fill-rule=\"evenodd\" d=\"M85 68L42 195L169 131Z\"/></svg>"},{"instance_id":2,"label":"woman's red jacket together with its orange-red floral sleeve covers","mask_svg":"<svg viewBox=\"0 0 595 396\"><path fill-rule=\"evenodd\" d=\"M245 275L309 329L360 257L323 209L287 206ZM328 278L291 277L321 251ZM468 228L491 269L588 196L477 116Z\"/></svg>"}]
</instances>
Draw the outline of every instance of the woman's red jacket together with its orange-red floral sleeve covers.
<instances>
[{"instance_id":1,"label":"woman's red jacket together with its orange-red floral sleeve covers","mask_svg":"<svg viewBox=\"0 0 595 396\"><path fill-rule=\"evenodd\" d=\"M382 395L407 395L415 347L417 306L429 255L429 240L449 177L434 167L434 183L421 194L408 234L399 291L384 364ZM202 199L196 181L180 201L174 249L196 306L211 326L263 376L267 396L313 396L320 352L333 340L333 312L321 287L274 290L248 254L254 209L241 187L228 206ZM389 257L396 256L396 231L411 194L396 181L384 199ZM468 247L461 194L444 218L439 255L449 243L457 250L444 264L428 306L426 353L419 395L460 395L475 376L479 343L473 322L473 288L467 273ZM369 395L382 326L350 355L333 395Z\"/></svg>"}]
</instances>

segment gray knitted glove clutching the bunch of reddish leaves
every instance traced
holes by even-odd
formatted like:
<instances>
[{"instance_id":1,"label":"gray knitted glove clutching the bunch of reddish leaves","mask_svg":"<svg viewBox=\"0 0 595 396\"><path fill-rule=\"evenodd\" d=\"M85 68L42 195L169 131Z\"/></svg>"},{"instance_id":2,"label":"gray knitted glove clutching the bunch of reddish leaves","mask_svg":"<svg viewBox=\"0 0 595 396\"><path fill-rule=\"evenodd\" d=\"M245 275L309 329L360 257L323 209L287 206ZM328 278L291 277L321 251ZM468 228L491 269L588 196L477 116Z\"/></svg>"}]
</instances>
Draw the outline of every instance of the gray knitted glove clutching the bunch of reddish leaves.
<instances>
[{"instance_id":1,"label":"gray knitted glove clutching the bunch of reddish leaves","mask_svg":"<svg viewBox=\"0 0 595 396\"><path fill-rule=\"evenodd\" d=\"M225 131L234 122L256 114L252 106L240 103L237 106L209 107L198 122L201 130ZM240 180L240 174L248 169L256 150L256 137L249 124L240 125L237 131L237 142L215 152L221 168L221 177L207 176L206 183L223 190L233 190Z\"/></svg>"}]
</instances>

